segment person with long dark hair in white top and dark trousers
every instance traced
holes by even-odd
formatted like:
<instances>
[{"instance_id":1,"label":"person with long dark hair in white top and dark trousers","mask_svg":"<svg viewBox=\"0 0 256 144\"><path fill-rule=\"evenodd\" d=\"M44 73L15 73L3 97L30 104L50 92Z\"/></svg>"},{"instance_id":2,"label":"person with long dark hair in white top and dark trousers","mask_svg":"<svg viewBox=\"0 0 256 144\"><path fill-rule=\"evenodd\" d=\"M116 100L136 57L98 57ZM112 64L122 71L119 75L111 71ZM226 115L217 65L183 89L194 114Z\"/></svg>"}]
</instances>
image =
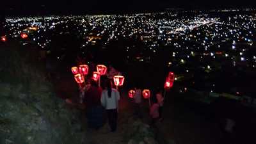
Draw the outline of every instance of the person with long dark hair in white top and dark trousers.
<instances>
[{"instance_id":1,"label":"person with long dark hair in white top and dark trousers","mask_svg":"<svg viewBox=\"0 0 256 144\"><path fill-rule=\"evenodd\" d=\"M106 89L102 91L100 102L104 106L108 113L108 123L111 128L111 132L116 131L117 124L117 109L118 100L120 99L120 93L112 88L110 79L106 79Z\"/></svg>"}]
</instances>

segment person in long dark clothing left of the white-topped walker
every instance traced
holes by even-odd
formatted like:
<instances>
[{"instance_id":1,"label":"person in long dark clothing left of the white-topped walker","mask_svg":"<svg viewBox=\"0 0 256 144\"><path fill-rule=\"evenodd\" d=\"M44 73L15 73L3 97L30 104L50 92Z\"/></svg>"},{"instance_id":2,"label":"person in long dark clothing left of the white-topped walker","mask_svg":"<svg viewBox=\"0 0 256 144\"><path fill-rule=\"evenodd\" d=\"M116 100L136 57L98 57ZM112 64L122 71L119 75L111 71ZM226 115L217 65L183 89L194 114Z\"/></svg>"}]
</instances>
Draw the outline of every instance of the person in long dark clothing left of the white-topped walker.
<instances>
[{"instance_id":1,"label":"person in long dark clothing left of the white-topped walker","mask_svg":"<svg viewBox=\"0 0 256 144\"><path fill-rule=\"evenodd\" d=\"M88 126L94 129L99 129L104 123L103 108L100 104L101 93L102 89L95 81L90 79L86 83L86 92L84 93L86 116L88 118Z\"/></svg>"}]
</instances>

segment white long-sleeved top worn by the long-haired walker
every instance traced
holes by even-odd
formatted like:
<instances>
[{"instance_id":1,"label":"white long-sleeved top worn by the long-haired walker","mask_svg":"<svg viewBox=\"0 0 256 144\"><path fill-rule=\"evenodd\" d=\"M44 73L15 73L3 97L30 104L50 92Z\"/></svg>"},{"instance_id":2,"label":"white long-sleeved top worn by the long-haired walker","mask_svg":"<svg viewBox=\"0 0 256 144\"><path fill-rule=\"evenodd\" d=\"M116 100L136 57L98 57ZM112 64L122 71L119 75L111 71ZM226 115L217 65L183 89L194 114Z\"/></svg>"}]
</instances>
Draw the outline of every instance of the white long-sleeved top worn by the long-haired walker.
<instances>
[{"instance_id":1,"label":"white long-sleeved top worn by the long-haired walker","mask_svg":"<svg viewBox=\"0 0 256 144\"><path fill-rule=\"evenodd\" d=\"M118 100L120 100L120 94L114 88L112 88L111 97L108 97L108 90L103 90L101 93L100 102L106 109L118 108Z\"/></svg>"}]
</instances>

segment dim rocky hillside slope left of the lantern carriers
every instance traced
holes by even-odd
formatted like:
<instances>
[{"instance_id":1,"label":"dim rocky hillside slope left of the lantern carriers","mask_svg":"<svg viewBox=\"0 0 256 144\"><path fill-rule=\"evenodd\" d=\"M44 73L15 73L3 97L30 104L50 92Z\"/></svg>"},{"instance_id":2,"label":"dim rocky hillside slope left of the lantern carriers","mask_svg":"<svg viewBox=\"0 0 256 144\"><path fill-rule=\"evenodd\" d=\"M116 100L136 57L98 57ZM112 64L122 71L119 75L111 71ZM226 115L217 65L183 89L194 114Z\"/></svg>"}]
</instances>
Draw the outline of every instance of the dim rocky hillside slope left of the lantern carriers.
<instances>
[{"instance_id":1,"label":"dim rocky hillside slope left of the lantern carriers","mask_svg":"<svg viewBox=\"0 0 256 144\"><path fill-rule=\"evenodd\" d=\"M86 143L76 109L47 82L40 52L0 45L0 143Z\"/></svg>"}]
</instances>

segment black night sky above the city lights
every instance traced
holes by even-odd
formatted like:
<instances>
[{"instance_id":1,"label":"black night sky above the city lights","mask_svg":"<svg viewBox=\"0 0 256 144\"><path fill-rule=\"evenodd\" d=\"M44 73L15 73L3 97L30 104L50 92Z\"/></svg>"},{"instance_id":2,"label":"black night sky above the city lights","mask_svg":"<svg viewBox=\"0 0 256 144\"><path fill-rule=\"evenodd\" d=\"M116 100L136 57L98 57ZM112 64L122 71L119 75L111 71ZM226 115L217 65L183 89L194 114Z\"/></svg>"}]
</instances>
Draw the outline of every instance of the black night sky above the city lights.
<instances>
[{"instance_id":1,"label":"black night sky above the city lights","mask_svg":"<svg viewBox=\"0 0 256 144\"><path fill-rule=\"evenodd\" d=\"M47 15L47 14L107 14L129 12L151 12L166 8L209 9L256 6L255 0L42 0L1 1L6 15Z\"/></svg>"}]
</instances>

